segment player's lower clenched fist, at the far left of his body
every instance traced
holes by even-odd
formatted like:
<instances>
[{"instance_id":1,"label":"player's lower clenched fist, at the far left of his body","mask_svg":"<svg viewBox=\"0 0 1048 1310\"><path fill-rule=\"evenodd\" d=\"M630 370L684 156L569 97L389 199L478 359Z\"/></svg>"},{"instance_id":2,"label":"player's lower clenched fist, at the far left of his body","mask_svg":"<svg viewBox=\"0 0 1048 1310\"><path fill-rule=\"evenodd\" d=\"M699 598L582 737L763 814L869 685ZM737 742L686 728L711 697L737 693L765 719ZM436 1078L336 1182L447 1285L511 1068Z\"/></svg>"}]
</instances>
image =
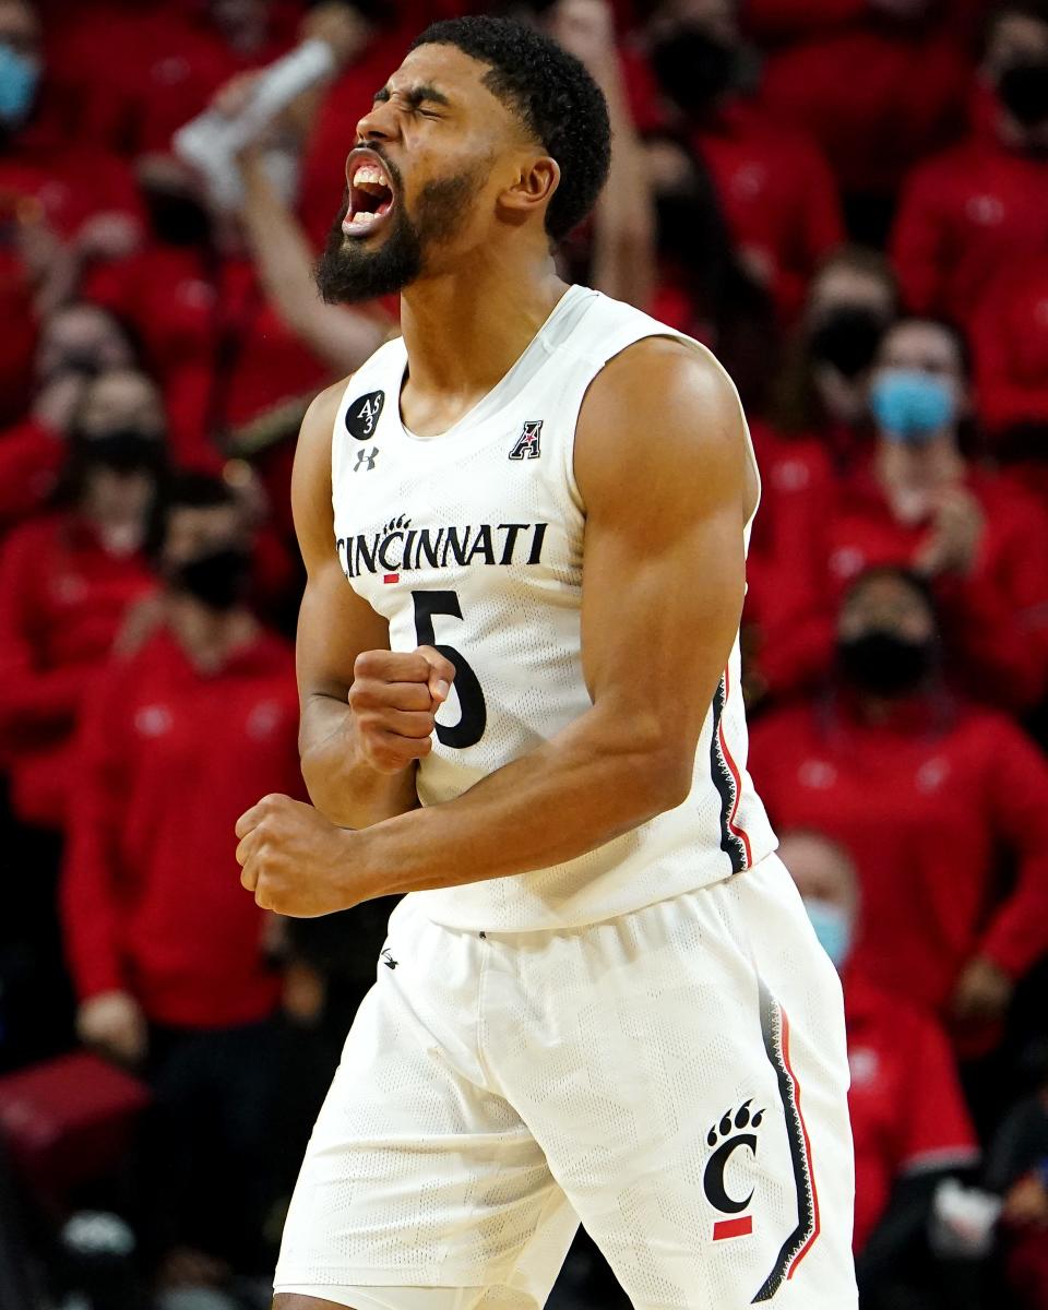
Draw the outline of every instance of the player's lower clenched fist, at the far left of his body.
<instances>
[{"instance_id":1,"label":"player's lower clenched fist, at the far left of his body","mask_svg":"<svg viewBox=\"0 0 1048 1310\"><path fill-rule=\"evenodd\" d=\"M263 796L237 819L240 880L263 909L314 918L365 900L354 895L350 844L312 806L291 796Z\"/></svg>"}]
</instances>

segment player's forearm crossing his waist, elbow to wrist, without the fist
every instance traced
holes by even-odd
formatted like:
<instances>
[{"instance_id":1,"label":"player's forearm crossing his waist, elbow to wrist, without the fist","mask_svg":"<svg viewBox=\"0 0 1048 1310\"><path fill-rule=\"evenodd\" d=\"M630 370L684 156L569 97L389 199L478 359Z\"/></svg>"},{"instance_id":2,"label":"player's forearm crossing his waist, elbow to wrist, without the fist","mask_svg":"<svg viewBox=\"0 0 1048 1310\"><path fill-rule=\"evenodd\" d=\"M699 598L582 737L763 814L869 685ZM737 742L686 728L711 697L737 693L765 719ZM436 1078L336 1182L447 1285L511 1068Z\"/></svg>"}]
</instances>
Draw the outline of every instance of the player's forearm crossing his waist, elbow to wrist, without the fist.
<instances>
[{"instance_id":1,"label":"player's forearm crossing his waist, elbow to wrist, without the fist","mask_svg":"<svg viewBox=\"0 0 1048 1310\"><path fill-rule=\"evenodd\" d=\"M618 718L618 723L613 719ZM591 710L445 804L362 834L369 895L485 882L583 855L680 804L692 761L655 720ZM360 869L356 855L350 867Z\"/></svg>"}]
</instances>

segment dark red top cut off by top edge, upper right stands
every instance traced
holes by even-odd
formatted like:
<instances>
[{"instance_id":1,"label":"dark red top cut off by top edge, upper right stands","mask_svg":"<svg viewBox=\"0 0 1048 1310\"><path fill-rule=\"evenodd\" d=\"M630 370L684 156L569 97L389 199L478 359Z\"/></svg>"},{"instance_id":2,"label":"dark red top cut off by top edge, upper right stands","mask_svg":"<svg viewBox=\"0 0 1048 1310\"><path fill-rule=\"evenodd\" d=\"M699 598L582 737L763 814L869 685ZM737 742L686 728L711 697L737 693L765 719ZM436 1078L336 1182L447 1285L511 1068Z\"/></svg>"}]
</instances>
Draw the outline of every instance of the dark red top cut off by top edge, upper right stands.
<instances>
[{"instance_id":1,"label":"dark red top cut off by top edge, upper right stands","mask_svg":"<svg viewBox=\"0 0 1048 1310\"><path fill-rule=\"evenodd\" d=\"M761 101L817 141L845 190L891 190L958 136L980 8L947 0L900 22L867 0L747 0Z\"/></svg>"}]
</instances>

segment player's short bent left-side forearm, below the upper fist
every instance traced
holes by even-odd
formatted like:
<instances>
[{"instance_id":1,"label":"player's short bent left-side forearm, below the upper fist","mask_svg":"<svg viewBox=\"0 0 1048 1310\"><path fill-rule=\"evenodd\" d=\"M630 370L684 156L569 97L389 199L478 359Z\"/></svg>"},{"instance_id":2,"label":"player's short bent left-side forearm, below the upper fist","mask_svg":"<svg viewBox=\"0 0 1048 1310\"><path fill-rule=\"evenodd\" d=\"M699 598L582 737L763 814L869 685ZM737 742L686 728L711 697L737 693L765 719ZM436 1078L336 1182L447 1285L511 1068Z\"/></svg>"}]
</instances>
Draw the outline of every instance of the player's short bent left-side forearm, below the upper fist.
<instances>
[{"instance_id":1,"label":"player's short bent left-side forearm, below the upper fist","mask_svg":"<svg viewBox=\"0 0 1048 1310\"><path fill-rule=\"evenodd\" d=\"M356 749L348 706L313 697L299 738L309 799L339 828L369 828L418 806L414 768L377 773Z\"/></svg>"}]
</instances>

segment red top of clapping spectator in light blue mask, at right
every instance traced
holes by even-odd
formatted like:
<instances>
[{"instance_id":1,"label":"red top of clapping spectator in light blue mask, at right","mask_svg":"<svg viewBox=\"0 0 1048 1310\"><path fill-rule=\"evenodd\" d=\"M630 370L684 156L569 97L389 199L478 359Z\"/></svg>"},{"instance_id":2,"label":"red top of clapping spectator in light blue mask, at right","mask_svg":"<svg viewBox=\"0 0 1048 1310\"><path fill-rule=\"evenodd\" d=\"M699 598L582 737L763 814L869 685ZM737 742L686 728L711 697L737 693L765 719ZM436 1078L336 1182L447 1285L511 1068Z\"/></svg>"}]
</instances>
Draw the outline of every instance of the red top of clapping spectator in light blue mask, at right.
<instances>
[{"instance_id":1,"label":"red top of clapping spectator in light blue mask, at right","mask_svg":"<svg viewBox=\"0 0 1048 1310\"><path fill-rule=\"evenodd\" d=\"M951 665L965 690L1007 709L1035 705L1048 676L1048 514L1005 478L971 470L965 479L985 516L973 571L934 582ZM910 565L927 524L899 523L872 473L855 473L827 516L825 659L837 603L876 565Z\"/></svg>"}]
</instances>

